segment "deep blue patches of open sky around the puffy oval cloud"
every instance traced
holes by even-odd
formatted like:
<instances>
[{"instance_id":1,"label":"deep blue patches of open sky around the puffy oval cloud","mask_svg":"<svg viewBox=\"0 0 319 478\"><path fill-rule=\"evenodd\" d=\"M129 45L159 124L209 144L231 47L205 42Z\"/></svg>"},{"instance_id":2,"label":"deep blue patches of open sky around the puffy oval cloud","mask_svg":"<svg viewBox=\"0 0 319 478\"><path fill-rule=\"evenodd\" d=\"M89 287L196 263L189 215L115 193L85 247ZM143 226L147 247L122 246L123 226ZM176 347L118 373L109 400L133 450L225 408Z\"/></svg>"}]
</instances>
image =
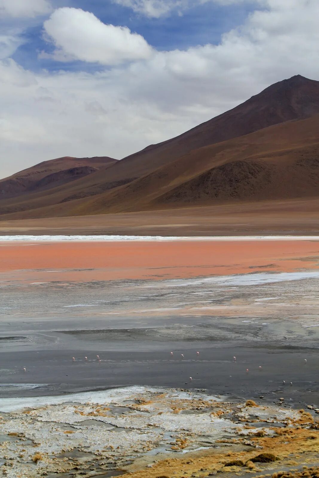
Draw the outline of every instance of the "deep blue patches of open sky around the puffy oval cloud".
<instances>
[{"instance_id":1,"label":"deep blue patches of open sky around the puffy oval cloud","mask_svg":"<svg viewBox=\"0 0 319 478\"><path fill-rule=\"evenodd\" d=\"M194 4L179 15L173 11L171 15L160 18L145 17L132 9L118 5L108 0L56 0L51 2L56 8L67 6L94 13L103 23L117 26L127 26L132 32L140 33L145 40L158 51L180 49L207 43L218 44L224 32L235 28L244 22L253 11L251 1L223 6L207 2ZM8 20L7 20L8 22ZM16 22L16 19L14 19ZM11 24L13 24L11 20ZM44 41L43 17L32 20L22 33L24 43L12 55L12 58L24 68L38 71L48 69L64 70L99 70L101 66L88 65L86 62L72 61L69 63L38 59L39 51L52 52L54 47Z\"/></svg>"}]
</instances>

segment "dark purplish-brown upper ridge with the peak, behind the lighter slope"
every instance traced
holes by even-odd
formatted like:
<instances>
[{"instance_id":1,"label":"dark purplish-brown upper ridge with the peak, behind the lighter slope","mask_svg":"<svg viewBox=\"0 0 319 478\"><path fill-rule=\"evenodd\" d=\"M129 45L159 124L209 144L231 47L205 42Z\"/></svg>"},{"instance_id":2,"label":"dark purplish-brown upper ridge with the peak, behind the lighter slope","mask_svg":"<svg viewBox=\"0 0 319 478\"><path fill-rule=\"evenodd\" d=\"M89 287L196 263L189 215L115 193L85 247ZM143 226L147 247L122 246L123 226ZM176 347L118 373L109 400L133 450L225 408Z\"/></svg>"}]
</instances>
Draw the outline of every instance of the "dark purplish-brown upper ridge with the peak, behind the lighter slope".
<instances>
[{"instance_id":1,"label":"dark purplish-brown upper ridge with the peak, behind the lighter slope","mask_svg":"<svg viewBox=\"0 0 319 478\"><path fill-rule=\"evenodd\" d=\"M297 75L267 87L241 105L176 138L152 144L117 163L113 171L137 177L194 149L319 113L319 81Z\"/></svg>"}]
</instances>

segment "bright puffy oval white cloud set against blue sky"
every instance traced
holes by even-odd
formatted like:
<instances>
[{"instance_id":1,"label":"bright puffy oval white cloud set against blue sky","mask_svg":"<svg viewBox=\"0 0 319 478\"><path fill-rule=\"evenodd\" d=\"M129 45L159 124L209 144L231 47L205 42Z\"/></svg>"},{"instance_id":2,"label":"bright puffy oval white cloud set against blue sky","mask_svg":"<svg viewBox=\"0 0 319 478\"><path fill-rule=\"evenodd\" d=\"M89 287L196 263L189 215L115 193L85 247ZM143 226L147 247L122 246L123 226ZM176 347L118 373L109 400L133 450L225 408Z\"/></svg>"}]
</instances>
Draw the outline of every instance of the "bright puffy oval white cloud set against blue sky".
<instances>
[{"instance_id":1,"label":"bright puffy oval white cloud set against blue sky","mask_svg":"<svg viewBox=\"0 0 319 478\"><path fill-rule=\"evenodd\" d=\"M151 46L127 27L102 23L93 13L60 8L44 22L47 37L55 44L57 61L82 60L102 65L149 58ZM40 58L48 56L40 54Z\"/></svg>"}]
</instances>

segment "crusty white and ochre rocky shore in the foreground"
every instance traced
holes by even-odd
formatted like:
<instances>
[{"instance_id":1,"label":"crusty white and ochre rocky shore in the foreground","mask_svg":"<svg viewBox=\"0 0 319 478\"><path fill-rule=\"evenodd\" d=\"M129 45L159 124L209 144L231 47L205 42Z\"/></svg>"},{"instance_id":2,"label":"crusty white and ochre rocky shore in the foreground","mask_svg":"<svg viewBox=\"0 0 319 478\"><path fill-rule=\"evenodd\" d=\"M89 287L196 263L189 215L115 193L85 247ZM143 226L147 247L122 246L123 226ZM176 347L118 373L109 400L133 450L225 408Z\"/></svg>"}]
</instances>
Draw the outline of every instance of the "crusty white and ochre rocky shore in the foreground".
<instances>
[{"instance_id":1,"label":"crusty white and ochre rocky shore in the foreground","mask_svg":"<svg viewBox=\"0 0 319 478\"><path fill-rule=\"evenodd\" d=\"M0 402L2 476L319 476L315 410L145 387L68 400L44 397L24 409Z\"/></svg>"}]
</instances>

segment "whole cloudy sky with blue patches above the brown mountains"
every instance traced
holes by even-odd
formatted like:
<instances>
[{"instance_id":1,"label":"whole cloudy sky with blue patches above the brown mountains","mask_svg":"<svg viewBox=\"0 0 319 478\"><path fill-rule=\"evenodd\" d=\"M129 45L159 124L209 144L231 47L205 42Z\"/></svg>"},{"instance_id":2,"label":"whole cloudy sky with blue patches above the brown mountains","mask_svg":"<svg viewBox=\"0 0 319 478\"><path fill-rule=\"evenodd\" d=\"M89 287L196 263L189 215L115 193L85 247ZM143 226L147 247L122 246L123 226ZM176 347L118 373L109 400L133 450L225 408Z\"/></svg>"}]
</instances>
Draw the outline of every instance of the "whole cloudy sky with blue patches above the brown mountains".
<instances>
[{"instance_id":1,"label":"whole cloudy sky with blue patches above the brown mountains","mask_svg":"<svg viewBox=\"0 0 319 478\"><path fill-rule=\"evenodd\" d=\"M122 157L319 80L319 0L0 0L0 176Z\"/></svg>"}]
</instances>

